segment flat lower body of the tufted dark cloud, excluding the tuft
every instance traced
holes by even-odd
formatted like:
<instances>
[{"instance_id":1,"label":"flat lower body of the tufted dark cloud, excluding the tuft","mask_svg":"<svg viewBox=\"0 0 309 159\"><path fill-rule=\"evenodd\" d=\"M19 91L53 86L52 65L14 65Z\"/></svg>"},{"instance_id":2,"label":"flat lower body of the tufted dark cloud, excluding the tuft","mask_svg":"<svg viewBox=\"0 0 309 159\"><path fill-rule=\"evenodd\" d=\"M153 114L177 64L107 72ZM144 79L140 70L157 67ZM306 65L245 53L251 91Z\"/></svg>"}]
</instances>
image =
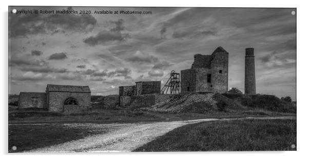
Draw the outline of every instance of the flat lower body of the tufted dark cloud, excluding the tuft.
<instances>
[{"instance_id":1,"label":"flat lower body of the tufted dark cloud, excluding the tuft","mask_svg":"<svg viewBox=\"0 0 309 159\"><path fill-rule=\"evenodd\" d=\"M129 37L129 34L122 34L121 32L111 32L103 30L94 36L90 36L84 39L84 43L95 46L104 45L109 42L125 41Z\"/></svg>"}]
</instances>

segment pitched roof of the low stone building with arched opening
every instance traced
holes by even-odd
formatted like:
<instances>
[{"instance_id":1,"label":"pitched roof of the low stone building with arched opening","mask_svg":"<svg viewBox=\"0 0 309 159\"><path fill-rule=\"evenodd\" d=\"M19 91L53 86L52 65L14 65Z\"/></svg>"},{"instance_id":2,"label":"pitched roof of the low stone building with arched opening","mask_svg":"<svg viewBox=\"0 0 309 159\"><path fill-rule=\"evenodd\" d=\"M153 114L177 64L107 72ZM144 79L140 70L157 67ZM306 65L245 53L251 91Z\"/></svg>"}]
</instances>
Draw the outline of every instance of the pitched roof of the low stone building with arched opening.
<instances>
[{"instance_id":1,"label":"pitched roof of the low stone building with arched opening","mask_svg":"<svg viewBox=\"0 0 309 159\"><path fill-rule=\"evenodd\" d=\"M52 92L83 92L91 93L88 86L70 86L70 85L47 85L46 90Z\"/></svg>"}]
</instances>

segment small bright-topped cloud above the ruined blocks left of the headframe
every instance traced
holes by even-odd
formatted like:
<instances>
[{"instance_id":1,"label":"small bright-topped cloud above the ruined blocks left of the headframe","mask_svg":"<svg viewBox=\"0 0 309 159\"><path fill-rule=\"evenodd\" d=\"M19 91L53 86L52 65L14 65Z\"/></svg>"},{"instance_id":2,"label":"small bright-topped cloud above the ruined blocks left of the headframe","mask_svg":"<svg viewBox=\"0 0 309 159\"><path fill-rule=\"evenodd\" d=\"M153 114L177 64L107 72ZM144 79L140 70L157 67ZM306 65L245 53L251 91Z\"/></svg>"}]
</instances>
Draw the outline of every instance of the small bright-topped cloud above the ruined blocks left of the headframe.
<instances>
[{"instance_id":1,"label":"small bright-topped cloud above the ruined blocks left of the headframe","mask_svg":"<svg viewBox=\"0 0 309 159\"><path fill-rule=\"evenodd\" d=\"M149 55L147 53L142 53L140 50L127 58L127 60L132 63L155 63L159 61L157 57L154 57L153 55Z\"/></svg>"}]
</instances>

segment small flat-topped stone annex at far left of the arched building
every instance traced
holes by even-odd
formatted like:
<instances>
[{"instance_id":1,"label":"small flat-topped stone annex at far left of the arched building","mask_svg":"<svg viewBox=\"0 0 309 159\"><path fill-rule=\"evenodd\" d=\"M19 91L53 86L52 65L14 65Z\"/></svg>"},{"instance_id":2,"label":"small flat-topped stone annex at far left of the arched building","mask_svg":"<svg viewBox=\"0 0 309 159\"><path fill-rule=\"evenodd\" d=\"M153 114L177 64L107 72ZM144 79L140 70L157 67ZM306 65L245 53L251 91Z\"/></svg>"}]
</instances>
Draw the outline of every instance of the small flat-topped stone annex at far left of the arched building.
<instances>
[{"instance_id":1,"label":"small flat-topped stone annex at far left of the arched building","mask_svg":"<svg viewBox=\"0 0 309 159\"><path fill-rule=\"evenodd\" d=\"M46 108L45 92L21 92L18 108Z\"/></svg>"}]
</instances>

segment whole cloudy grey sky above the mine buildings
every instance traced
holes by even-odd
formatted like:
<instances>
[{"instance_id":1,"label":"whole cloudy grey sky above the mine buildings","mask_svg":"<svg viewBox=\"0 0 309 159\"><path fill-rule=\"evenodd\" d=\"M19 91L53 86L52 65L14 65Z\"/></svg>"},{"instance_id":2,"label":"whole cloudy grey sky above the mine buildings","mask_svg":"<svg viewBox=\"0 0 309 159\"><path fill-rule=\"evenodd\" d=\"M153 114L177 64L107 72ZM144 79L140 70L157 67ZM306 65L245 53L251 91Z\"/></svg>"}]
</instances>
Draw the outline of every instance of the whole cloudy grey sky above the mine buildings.
<instances>
[{"instance_id":1,"label":"whole cloudy grey sky above the mine buildings","mask_svg":"<svg viewBox=\"0 0 309 159\"><path fill-rule=\"evenodd\" d=\"M45 92L47 84L89 86L92 95L118 94L138 81L163 85L171 70L191 68L194 54L221 46L229 53L229 89L244 92L245 48L254 48L257 93L296 100L295 8L11 9L78 14L10 13L10 94ZM118 14L94 13L107 10Z\"/></svg>"}]
</instances>

